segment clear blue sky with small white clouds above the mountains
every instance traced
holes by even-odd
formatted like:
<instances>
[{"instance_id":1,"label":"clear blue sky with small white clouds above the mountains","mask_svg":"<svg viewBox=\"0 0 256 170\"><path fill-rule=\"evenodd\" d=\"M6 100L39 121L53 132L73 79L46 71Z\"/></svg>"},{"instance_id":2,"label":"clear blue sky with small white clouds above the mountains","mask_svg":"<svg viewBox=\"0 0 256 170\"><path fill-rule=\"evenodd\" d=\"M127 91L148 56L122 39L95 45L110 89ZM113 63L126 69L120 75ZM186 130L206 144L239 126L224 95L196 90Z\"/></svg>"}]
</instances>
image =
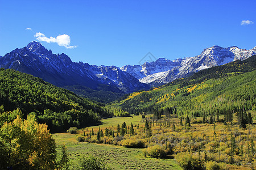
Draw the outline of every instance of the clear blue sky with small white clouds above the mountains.
<instances>
[{"instance_id":1,"label":"clear blue sky with small white clouds above the mountains","mask_svg":"<svg viewBox=\"0 0 256 170\"><path fill-rule=\"evenodd\" d=\"M75 62L121 67L138 65L148 52L176 59L213 45L251 49L255 6L255 0L0 0L0 55L36 40Z\"/></svg>"}]
</instances>

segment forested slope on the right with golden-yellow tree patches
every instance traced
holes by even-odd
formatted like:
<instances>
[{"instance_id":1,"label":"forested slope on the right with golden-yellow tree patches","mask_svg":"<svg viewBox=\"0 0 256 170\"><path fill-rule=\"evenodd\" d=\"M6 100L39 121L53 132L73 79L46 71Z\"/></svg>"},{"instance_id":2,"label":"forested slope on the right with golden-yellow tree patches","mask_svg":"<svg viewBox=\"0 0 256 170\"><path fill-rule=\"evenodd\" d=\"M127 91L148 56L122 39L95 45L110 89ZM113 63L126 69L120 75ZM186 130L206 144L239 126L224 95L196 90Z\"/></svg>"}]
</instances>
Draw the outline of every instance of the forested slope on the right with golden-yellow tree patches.
<instances>
[{"instance_id":1,"label":"forested slope on the right with golden-yellow tree patches","mask_svg":"<svg viewBox=\"0 0 256 170\"><path fill-rule=\"evenodd\" d=\"M256 56L201 70L150 91L134 92L114 105L130 113L176 108L179 114L256 109Z\"/></svg>"}]
</instances>

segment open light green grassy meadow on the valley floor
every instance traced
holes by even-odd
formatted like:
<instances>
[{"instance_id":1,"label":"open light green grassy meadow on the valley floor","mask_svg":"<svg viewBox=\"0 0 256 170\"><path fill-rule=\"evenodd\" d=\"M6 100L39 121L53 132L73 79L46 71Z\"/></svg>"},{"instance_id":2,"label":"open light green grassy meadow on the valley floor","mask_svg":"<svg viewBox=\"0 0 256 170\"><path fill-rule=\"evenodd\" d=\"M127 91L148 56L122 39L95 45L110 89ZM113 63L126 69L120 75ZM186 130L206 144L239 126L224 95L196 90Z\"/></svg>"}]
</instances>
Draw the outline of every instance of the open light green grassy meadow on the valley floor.
<instances>
[{"instance_id":1,"label":"open light green grassy meadow on the valley floor","mask_svg":"<svg viewBox=\"0 0 256 170\"><path fill-rule=\"evenodd\" d=\"M144 125L144 122L141 122L141 116L113 117L102 122L101 129L108 127L115 129L117 124L121 125L122 122L126 122L127 125L130 125L131 122L134 125ZM88 130L85 128L84 130L87 132L92 128L97 131L99 126L90 127ZM78 133L81 134L83 132L79 130ZM57 146L62 144L67 146L72 164L76 164L80 156L92 154L113 169L181 169L175 159L144 158L143 149L139 148L77 142L76 135L69 133L53 134L53 138ZM57 151L60 153L60 147L58 147Z\"/></svg>"}]
</instances>

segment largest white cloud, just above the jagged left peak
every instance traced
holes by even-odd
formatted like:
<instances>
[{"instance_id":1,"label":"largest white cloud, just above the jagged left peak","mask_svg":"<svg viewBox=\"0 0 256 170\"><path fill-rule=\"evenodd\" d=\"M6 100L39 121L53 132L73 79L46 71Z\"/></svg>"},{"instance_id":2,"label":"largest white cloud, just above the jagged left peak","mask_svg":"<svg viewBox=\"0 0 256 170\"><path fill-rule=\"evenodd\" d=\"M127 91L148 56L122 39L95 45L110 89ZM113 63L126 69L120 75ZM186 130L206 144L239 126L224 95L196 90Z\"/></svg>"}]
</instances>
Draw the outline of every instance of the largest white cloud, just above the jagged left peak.
<instances>
[{"instance_id":1,"label":"largest white cloud, just above the jagged left peak","mask_svg":"<svg viewBox=\"0 0 256 170\"><path fill-rule=\"evenodd\" d=\"M34 36L36 37L36 40L45 41L48 43L56 42L59 46L65 46L65 48L68 48L68 49L73 49L77 47L77 45L73 45L73 46L70 45L70 36L66 34L59 35L56 38L55 37L48 38L43 33L36 32Z\"/></svg>"}]
</instances>

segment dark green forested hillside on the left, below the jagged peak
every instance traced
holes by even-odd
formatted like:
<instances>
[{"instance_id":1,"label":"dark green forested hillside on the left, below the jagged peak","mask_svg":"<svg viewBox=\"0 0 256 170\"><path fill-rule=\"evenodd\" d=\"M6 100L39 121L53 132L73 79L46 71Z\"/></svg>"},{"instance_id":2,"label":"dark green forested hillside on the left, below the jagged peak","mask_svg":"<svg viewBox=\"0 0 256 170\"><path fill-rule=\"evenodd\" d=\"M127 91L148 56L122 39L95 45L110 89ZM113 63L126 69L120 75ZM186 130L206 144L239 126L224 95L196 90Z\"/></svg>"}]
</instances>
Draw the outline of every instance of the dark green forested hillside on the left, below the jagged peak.
<instances>
[{"instance_id":1,"label":"dark green forested hillside on the left, below the jagged peak","mask_svg":"<svg viewBox=\"0 0 256 170\"><path fill-rule=\"evenodd\" d=\"M35 114L38 122L46 122L53 132L65 131L71 126L96 125L100 116L109 115L111 110L40 78L10 69L0 71L0 105L6 112L20 109L23 118Z\"/></svg>"}]
</instances>

